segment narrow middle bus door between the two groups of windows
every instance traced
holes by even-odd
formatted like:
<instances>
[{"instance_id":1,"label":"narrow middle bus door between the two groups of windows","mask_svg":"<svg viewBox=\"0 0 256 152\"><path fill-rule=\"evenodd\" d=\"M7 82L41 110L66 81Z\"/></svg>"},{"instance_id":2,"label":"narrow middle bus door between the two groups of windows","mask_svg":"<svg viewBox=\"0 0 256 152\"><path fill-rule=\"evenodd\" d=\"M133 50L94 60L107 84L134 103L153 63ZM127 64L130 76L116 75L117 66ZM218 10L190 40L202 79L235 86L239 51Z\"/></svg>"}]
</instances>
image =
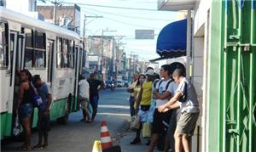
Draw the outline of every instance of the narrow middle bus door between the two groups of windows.
<instances>
[{"instance_id":1,"label":"narrow middle bus door between the two groups of windows","mask_svg":"<svg viewBox=\"0 0 256 152\"><path fill-rule=\"evenodd\" d=\"M48 53L48 76L47 82L49 82L49 86L52 87L52 81L54 76L54 47L55 42L53 40L47 41L47 53Z\"/></svg>"}]
</instances>

